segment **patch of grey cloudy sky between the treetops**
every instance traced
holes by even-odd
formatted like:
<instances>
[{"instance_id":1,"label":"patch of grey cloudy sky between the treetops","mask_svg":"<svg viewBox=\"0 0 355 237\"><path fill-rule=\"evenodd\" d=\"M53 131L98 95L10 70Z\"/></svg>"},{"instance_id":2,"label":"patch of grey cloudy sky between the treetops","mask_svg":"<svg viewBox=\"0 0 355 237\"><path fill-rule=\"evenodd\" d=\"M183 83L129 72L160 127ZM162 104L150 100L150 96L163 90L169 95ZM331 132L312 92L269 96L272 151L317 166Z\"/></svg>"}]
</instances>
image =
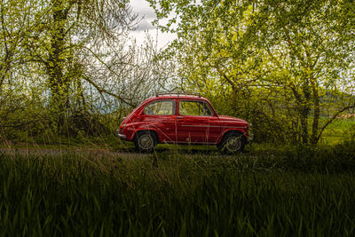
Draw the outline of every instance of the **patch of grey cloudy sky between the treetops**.
<instances>
[{"instance_id":1,"label":"patch of grey cloudy sky between the treetops","mask_svg":"<svg viewBox=\"0 0 355 237\"><path fill-rule=\"evenodd\" d=\"M156 15L153 8L151 8L145 0L130 0L130 5L133 8L133 12L137 13L139 17L144 17L144 19L140 21L138 28L131 34L136 38L138 44L144 42L146 32L154 39L157 39L158 48L160 49L165 47L176 37L175 34L163 34L152 25L152 21L156 18Z\"/></svg>"}]
</instances>

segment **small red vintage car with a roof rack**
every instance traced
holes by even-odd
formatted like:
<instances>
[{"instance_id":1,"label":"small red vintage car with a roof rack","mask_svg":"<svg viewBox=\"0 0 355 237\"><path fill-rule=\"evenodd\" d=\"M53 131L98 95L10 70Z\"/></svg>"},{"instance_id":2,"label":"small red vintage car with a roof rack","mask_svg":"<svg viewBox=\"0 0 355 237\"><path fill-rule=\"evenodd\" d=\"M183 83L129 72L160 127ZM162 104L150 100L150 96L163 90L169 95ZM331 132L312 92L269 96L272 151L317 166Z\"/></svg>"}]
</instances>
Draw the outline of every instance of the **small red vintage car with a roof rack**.
<instances>
[{"instance_id":1,"label":"small red vintage car with a roof rack","mask_svg":"<svg viewBox=\"0 0 355 237\"><path fill-rule=\"evenodd\" d=\"M208 99L193 93L160 93L124 118L119 138L134 141L139 152L158 143L216 145L225 154L243 150L251 139L248 122L217 115Z\"/></svg>"}]
</instances>

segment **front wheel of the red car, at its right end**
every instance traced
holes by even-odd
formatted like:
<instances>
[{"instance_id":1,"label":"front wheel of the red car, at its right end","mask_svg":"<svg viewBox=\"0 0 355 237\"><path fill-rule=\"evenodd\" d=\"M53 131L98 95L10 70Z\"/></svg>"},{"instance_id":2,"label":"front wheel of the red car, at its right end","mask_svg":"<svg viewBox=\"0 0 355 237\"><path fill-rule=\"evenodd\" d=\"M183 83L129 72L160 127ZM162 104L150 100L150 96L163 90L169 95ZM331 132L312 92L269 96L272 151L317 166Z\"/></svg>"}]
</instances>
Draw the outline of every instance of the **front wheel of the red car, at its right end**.
<instances>
[{"instance_id":1,"label":"front wheel of the red car, at its right end","mask_svg":"<svg viewBox=\"0 0 355 237\"><path fill-rule=\"evenodd\" d=\"M245 137L239 132L232 132L222 139L217 145L218 150L223 154L238 154L244 149Z\"/></svg>"}]
</instances>

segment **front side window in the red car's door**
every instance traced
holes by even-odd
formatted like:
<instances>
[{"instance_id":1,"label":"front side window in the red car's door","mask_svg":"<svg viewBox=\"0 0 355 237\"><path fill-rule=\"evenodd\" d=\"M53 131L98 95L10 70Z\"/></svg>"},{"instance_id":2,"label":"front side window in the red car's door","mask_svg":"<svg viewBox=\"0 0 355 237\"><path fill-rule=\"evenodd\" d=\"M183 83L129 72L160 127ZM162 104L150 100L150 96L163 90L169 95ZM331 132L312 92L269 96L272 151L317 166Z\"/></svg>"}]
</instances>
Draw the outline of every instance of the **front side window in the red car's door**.
<instances>
[{"instance_id":1,"label":"front side window in the red car's door","mask_svg":"<svg viewBox=\"0 0 355 237\"><path fill-rule=\"evenodd\" d=\"M180 115L210 116L213 115L209 105L203 101L180 100L178 104Z\"/></svg>"}]
</instances>

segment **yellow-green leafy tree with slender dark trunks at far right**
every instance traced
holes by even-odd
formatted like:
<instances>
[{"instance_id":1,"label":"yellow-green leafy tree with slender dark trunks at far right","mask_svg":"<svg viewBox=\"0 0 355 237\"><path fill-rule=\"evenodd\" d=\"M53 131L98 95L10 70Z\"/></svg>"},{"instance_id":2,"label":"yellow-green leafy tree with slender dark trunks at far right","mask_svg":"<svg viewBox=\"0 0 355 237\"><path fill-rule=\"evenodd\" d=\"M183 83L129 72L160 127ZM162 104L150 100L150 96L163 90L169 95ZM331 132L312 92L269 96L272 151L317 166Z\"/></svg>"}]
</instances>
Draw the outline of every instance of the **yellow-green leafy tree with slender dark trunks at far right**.
<instances>
[{"instance_id":1,"label":"yellow-green leafy tree with slender dark trunks at far right","mask_svg":"<svg viewBox=\"0 0 355 237\"><path fill-rule=\"evenodd\" d=\"M255 24L262 26L260 43L271 67L286 75L272 83L293 94L304 143L309 142L307 120L312 119L310 142L315 144L321 136L321 100L327 91L337 92L342 74L352 67L354 6L347 1L270 1L258 14L269 15L268 20L256 17Z\"/></svg>"}]
</instances>

